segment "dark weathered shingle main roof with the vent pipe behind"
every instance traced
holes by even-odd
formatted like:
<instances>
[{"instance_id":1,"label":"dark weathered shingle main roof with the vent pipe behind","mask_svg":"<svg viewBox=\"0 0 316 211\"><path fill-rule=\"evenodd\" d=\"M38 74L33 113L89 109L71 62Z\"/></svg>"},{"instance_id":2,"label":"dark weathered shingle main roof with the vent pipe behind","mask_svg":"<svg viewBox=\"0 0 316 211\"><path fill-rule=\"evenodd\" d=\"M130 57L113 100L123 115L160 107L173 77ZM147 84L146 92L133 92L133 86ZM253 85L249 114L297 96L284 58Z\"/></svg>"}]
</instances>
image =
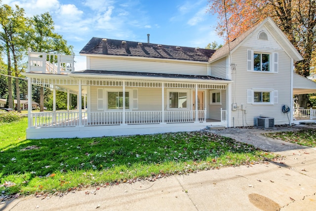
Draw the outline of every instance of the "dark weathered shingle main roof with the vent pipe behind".
<instances>
[{"instance_id":1,"label":"dark weathered shingle main roof with the vent pipe behind","mask_svg":"<svg viewBox=\"0 0 316 211\"><path fill-rule=\"evenodd\" d=\"M82 48L80 54L138 56L207 62L214 52L215 50L203 48L92 38Z\"/></svg>"}]
</instances>

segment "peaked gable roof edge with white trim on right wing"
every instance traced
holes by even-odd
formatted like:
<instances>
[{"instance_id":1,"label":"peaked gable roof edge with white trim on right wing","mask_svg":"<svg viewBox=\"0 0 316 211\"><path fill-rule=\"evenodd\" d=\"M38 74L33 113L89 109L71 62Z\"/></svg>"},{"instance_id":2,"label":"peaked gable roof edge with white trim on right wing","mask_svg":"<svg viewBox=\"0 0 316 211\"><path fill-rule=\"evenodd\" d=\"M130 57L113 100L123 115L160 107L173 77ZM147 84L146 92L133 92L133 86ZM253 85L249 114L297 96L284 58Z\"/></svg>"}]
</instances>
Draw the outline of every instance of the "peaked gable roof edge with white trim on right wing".
<instances>
[{"instance_id":1,"label":"peaked gable roof edge with white trim on right wing","mask_svg":"<svg viewBox=\"0 0 316 211\"><path fill-rule=\"evenodd\" d=\"M272 18L268 17L267 19L252 27L236 39L232 40L229 43L226 43L220 49L216 50L216 52L209 59L209 62L214 62L228 56L230 51L234 52L240 45L246 42L249 37L251 37L251 35L259 33L259 31L263 28L269 31L270 35L275 39L279 46L284 49L284 51L288 55L290 55L290 57L292 57L294 61L300 61L303 59L300 53L293 46L293 44L289 42L284 33L276 26L276 23L272 20Z\"/></svg>"}]
</instances>

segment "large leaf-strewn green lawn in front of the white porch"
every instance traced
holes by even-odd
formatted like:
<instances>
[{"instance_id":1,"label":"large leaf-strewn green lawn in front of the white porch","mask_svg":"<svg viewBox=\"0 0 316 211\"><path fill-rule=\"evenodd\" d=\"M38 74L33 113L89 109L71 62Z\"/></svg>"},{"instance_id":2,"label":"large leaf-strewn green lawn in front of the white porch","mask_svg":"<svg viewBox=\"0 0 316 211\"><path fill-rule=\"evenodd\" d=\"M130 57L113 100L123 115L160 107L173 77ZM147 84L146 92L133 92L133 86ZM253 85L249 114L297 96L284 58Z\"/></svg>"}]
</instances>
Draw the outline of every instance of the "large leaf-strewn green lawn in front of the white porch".
<instances>
[{"instance_id":1,"label":"large leaf-strewn green lawn in front of the white porch","mask_svg":"<svg viewBox=\"0 0 316 211\"><path fill-rule=\"evenodd\" d=\"M139 178L155 180L276 157L252 145L201 131L25 140L26 127L26 118L0 127L0 191L5 194L69 191Z\"/></svg>"}]
</instances>

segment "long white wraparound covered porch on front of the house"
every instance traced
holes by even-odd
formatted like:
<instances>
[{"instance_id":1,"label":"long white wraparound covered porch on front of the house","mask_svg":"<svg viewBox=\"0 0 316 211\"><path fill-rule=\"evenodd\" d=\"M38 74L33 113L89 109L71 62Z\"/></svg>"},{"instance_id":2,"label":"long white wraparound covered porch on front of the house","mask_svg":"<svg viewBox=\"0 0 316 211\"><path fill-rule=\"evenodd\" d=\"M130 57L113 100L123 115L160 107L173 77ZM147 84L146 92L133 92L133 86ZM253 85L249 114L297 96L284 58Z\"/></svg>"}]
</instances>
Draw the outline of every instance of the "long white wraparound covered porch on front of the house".
<instances>
[{"instance_id":1,"label":"long white wraparound covered porch on front of the house","mask_svg":"<svg viewBox=\"0 0 316 211\"><path fill-rule=\"evenodd\" d=\"M227 127L228 81L181 76L127 79L130 76L105 73L27 76L29 90L32 85L51 88L54 98L52 111L29 110L29 139L194 131L211 125ZM56 90L68 93L67 110L56 110ZM32 91L29 93L32 98ZM70 93L78 96L77 110L69 109ZM214 99L212 104L213 93L221 93L223 99L218 102ZM114 104L110 102L113 99Z\"/></svg>"}]
</instances>

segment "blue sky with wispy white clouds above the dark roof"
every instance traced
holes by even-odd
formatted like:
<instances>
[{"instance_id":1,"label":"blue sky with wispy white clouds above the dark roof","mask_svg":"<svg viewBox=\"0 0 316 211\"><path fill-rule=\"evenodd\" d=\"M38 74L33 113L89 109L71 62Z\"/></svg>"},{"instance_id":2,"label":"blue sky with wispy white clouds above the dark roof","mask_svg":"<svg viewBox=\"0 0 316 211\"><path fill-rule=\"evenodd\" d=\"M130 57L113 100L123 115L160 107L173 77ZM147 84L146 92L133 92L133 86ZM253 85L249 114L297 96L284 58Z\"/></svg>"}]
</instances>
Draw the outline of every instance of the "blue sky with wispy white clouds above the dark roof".
<instances>
[{"instance_id":1,"label":"blue sky with wispy white clouds above the dark roof","mask_svg":"<svg viewBox=\"0 0 316 211\"><path fill-rule=\"evenodd\" d=\"M85 69L79 51L92 38L205 47L223 39L207 0L2 0L25 9L27 16L49 12L55 32L74 46L75 70Z\"/></svg>"}]
</instances>

